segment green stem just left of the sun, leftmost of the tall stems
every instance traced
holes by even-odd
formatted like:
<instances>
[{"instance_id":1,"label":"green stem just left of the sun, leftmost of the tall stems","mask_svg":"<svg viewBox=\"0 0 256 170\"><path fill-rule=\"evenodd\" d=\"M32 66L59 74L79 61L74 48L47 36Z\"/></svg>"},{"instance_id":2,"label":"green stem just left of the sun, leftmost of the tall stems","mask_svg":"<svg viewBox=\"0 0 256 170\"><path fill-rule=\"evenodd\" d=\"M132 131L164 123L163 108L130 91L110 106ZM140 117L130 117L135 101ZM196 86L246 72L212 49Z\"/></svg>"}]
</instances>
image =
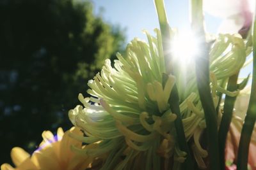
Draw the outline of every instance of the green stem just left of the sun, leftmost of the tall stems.
<instances>
[{"instance_id":1,"label":"green stem just left of the sun, leftmost of the tall stems","mask_svg":"<svg viewBox=\"0 0 256 170\"><path fill-rule=\"evenodd\" d=\"M159 25L161 30L162 36L162 43L163 43L163 53L164 53L164 63L166 67L166 73L172 73L172 56L170 53L170 26L168 24L168 20L166 17L165 9L164 9L164 2L163 0L154 0L157 10L157 15L159 19ZM165 76L164 76L165 75ZM163 84L166 82L166 74L163 74ZM184 132L184 127L182 124L182 117L180 115L180 108L179 108L179 93L177 90L177 86L174 85L173 90L170 94L169 98L170 109L173 113L177 116L174 124L175 129L177 131L177 142L179 144L180 150L187 153L187 157L185 162L182 164L181 169L191 169L193 167L193 160L191 157L191 153L189 151L188 143L186 142L186 136Z\"/></svg>"}]
</instances>

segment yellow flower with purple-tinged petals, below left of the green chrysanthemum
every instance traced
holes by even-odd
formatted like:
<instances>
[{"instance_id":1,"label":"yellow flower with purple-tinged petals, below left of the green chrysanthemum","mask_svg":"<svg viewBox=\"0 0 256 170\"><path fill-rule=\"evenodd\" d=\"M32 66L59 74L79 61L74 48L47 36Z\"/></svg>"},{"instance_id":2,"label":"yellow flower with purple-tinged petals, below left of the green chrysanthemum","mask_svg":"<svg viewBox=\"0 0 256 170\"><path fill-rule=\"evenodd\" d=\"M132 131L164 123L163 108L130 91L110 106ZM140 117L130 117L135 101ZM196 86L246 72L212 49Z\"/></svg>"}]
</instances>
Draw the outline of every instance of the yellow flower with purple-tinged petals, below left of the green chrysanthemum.
<instances>
[{"instance_id":1,"label":"yellow flower with purple-tinged petals, below left of the green chrysanthemum","mask_svg":"<svg viewBox=\"0 0 256 170\"><path fill-rule=\"evenodd\" d=\"M82 146L81 141L69 137L71 132L83 136L83 132L77 127L72 127L65 133L63 129L59 128L56 136L50 131L44 131L42 133L44 140L32 155L29 155L22 148L15 147L12 149L11 157L16 167L3 164L1 170L84 170L86 167L90 167L93 158L78 155L72 152L70 147L90 148L95 145Z\"/></svg>"}]
</instances>

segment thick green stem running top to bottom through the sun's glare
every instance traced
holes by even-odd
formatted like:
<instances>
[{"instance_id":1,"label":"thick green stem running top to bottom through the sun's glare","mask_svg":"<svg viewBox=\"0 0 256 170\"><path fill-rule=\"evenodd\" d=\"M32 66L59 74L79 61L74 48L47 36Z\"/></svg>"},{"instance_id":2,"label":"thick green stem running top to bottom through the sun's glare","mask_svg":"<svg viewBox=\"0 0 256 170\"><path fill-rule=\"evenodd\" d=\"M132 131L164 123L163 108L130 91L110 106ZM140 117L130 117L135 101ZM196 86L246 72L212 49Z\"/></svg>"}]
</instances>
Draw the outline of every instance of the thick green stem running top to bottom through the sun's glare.
<instances>
[{"instance_id":1,"label":"thick green stem running top to bottom through the sun's glare","mask_svg":"<svg viewBox=\"0 0 256 170\"><path fill-rule=\"evenodd\" d=\"M218 146L217 114L212 101L209 81L209 45L205 41L204 15L202 0L191 0L191 27L198 38L201 53L196 56L196 81L200 101L204 108L207 145L209 153L209 169L220 169L220 153Z\"/></svg>"}]
</instances>

